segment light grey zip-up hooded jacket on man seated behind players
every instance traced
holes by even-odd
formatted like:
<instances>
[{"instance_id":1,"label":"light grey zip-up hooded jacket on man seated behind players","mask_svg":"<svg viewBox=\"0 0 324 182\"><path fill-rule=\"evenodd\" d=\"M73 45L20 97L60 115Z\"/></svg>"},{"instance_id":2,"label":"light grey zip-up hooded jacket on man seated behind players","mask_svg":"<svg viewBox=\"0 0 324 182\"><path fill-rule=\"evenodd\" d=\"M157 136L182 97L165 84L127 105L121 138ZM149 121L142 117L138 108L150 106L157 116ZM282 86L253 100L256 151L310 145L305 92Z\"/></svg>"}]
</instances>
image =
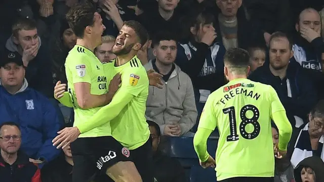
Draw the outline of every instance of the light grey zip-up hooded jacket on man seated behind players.
<instances>
[{"instance_id":1,"label":"light grey zip-up hooded jacket on man seated behind players","mask_svg":"<svg viewBox=\"0 0 324 182\"><path fill-rule=\"evenodd\" d=\"M153 64L151 60L144 67L153 69ZM164 133L166 124L179 123L183 135L196 123L197 110L189 76L174 65L175 69L162 89L149 86L145 115L159 125L161 133Z\"/></svg>"}]
</instances>

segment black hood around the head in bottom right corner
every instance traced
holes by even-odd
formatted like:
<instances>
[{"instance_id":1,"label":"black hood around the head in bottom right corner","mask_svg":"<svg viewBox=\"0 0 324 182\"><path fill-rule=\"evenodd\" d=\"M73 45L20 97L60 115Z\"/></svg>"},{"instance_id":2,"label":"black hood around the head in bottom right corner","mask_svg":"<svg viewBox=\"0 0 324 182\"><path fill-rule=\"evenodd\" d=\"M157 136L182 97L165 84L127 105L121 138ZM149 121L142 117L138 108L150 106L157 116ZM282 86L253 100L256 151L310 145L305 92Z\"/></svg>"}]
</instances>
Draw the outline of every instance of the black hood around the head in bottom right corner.
<instances>
[{"instance_id":1,"label":"black hood around the head in bottom right corner","mask_svg":"<svg viewBox=\"0 0 324 182\"><path fill-rule=\"evenodd\" d=\"M304 167L310 167L314 171L315 182L324 181L324 162L319 157L312 156L302 160L294 169L295 182L302 182L300 173Z\"/></svg>"}]
</instances>

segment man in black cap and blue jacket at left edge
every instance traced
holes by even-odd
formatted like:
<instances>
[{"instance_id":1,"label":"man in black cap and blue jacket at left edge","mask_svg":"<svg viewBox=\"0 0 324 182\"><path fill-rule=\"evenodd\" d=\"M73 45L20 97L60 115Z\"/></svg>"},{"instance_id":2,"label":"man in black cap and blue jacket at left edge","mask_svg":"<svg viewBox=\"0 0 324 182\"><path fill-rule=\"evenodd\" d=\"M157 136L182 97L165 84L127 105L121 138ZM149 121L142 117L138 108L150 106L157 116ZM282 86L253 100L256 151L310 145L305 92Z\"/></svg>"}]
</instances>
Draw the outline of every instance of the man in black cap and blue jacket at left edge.
<instances>
[{"instance_id":1,"label":"man in black cap and blue jacket at left edge","mask_svg":"<svg viewBox=\"0 0 324 182\"><path fill-rule=\"evenodd\" d=\"M13 121L22 132L21 150L37 163L50 162L58 154L52 145L61 127L56 108L43 94L28 87L25 68L17 52L0 59L0 124Z\"/></svg>"}]
</instances>

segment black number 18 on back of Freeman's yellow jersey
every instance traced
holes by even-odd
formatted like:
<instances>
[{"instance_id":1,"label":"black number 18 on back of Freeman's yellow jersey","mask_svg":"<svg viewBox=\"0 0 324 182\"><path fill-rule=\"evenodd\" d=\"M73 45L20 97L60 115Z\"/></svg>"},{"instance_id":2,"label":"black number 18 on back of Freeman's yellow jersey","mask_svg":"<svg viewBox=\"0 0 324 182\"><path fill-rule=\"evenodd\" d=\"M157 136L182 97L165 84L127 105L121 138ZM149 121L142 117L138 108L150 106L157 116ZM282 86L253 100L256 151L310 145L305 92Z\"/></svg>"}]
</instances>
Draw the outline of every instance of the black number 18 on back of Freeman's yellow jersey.
<instances>
[{"instance_id":1,"label":"black number 18 on back of Freeman's yellow jersey","mask_svg":"<svg viewBox=\"0 0 324 182\"><path fill-rule=\"evenodd\" d=\"M252 111L253 117L247 118L246 113L248 111ZM230 134L227 136L227 141L236 141L238 140L238 134L236 129L236 117L235 117L235 108L234 106L227 107L223 109L224 114L229 115L229 127L230 127ZM254 139L260 134L260 123L258 122L258 119L260 117L259 110L254 105L245 105L241 108L239 112L239 117L241 119L241 122L239 124L239 132L243 138L246 139ZM251 133L248 133L245 129L245 127L248 124L252 124L254 126L254 130Z\"/></svg>"}]
</instances>

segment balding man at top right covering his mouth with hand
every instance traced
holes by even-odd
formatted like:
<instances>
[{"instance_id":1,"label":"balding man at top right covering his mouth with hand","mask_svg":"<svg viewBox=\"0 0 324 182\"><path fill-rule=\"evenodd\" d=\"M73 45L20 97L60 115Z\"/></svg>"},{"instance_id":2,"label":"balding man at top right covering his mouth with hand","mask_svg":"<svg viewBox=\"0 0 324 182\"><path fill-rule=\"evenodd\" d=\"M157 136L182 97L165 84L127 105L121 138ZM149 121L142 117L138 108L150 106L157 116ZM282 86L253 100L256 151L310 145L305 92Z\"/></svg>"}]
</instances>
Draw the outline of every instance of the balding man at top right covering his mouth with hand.
<instances>
[{"instance_id":1,"label":"balding man at top right covering his mouth with hand","mask_svg":"<svg viewBox=\"0 0 324 182\"><path fill-rule=\"evenodd\" d=\"M296 22L297 34L293 45L294 60L307 69L321 70L324 42L321 38L319 13L311 8L303 10Z\"/></svg>"}]
</instances>

